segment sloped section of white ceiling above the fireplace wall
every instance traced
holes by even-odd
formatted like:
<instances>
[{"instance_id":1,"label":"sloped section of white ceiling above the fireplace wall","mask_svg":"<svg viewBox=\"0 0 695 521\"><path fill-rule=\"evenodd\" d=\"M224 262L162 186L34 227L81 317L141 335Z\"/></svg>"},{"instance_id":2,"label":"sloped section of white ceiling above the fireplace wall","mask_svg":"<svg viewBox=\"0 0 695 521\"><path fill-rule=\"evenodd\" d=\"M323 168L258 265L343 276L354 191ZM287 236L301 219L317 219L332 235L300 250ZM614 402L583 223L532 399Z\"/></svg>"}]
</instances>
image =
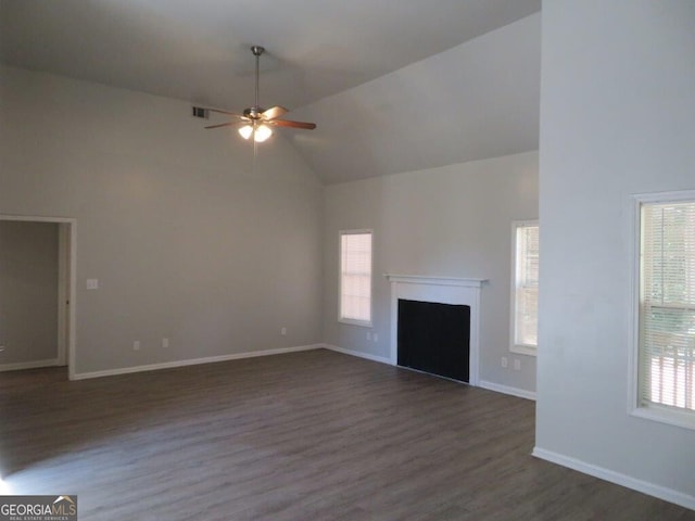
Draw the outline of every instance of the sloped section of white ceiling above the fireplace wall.
<instances>
[{"instance_id":1,"label":"sloped section of white ceiling above the fireplace wall","mask_svg":"<svg viewBox=\"0 0 695 521\"><path fill-rule=\"evenodd\" d=\"M292 113L289 132L325 182L538 150L541 16L535 14Z\"/></svg>"}]
</instances>

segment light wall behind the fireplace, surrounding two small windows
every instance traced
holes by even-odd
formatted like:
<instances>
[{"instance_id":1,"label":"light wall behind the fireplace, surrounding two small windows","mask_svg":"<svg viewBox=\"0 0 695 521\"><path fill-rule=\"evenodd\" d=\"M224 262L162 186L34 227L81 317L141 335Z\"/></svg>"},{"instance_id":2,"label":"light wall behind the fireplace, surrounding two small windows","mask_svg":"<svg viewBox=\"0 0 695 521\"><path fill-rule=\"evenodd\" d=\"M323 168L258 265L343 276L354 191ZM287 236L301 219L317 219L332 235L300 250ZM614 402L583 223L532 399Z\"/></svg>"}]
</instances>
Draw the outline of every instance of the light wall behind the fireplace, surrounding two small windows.
<instances>
[{"instance_id":1,"label":"light wall behind the fireplace, surrounding two small windows","mask_svg":"<svg viewBox=\"0 0 695 521\"><path fill-rule=\"evenodd\" d=\"M326 188L326 342L389 358L390 284L383 274L486 278L481 293L480 379L535 391L535 358L509 353L510 233L538 217L538 153L456 164ZM374 229L374 328L338 322L338 232ZM367 341L367 331L378 341ZM501 367L501 357L521 370Z\"/></svg>"}]
</instances>

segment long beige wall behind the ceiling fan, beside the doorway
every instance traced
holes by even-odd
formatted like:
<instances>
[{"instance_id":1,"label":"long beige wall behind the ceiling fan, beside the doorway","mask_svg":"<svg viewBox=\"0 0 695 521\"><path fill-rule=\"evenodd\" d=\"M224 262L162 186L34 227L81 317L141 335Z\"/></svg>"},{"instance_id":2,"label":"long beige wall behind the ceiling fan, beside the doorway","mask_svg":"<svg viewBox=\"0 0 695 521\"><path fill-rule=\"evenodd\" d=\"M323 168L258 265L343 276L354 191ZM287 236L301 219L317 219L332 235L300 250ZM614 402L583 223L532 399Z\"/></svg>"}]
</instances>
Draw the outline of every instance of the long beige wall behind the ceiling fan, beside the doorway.
<instances>
[{"instance_id":1,"label":"long beige wall behind the ceiling fan, beside the doorway","mask_svg":"<svg viewBox=\"0 0 695 521\"><path fill-rule=\"evenodd\" d=\"M12 67L0 120L0 213L77 219L77 372L320 342L323 187L281 136L254 170L184 101Z\"/></svg>"}]
</instances>

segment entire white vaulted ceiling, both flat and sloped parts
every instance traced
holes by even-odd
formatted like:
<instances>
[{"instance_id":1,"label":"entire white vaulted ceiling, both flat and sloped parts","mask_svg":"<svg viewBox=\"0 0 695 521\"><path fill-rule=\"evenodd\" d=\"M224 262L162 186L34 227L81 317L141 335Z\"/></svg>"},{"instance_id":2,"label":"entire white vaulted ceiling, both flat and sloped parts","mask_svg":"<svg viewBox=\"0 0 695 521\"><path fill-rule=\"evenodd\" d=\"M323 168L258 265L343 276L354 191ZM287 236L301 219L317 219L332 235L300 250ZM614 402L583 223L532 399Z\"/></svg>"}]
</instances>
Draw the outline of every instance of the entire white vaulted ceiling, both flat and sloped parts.
<instances>
[{"instance_id":1,"label":"entire white vaulted ceiling, both flat and sloped parts","mask_svg":"<svg viewBox=\"0 0 695 521\"><path fill-rule=\"evenodd\" d=\"M0 60L239 112L326 182L538 147L541 0L0 0ZM523 20L521 20L523 18Z\"/></svg>"}]
</instances>

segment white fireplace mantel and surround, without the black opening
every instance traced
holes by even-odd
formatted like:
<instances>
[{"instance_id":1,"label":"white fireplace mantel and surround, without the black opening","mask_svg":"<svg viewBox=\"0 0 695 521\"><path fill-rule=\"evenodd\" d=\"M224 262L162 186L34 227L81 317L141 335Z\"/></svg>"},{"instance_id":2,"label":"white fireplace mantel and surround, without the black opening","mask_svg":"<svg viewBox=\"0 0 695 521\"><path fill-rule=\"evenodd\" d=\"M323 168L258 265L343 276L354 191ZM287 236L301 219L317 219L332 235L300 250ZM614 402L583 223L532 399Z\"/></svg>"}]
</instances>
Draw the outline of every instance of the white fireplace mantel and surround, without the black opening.
<instances>
[{"instance_id":1,"label":"white fireplace mantel and surround, without the black opening","mask_svg":"<svg viewBox=\"0 0 695 521\"><path fill-rule=\"evenodd\" d=\"M397 365L399 300L463 304L470 307L469 384L479 381L480 290L488 279L386 274L391 282L391 364Z\"/></svg>"}]
</instances>

